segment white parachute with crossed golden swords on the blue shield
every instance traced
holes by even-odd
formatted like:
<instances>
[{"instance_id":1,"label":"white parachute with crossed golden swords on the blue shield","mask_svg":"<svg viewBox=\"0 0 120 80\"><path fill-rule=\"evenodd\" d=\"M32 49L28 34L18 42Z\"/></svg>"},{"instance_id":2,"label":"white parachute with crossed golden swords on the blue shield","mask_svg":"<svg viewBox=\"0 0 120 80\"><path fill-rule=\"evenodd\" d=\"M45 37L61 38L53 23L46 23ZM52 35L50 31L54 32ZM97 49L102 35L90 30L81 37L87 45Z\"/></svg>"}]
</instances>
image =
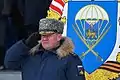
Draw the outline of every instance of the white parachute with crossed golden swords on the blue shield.
<instances>
[{"instance_id":1,"label":"white parachute with crossed golden swords on the blue shield","mask_svg":"<svg viewBox=\"0 0 120 80\"><path fill-rule=\"evenodd\" d=\"M92 52L100 61L103 61L99 53L93 49L111 27L107 12L98 5L90 4L84 6L76 14L75 24L72 27L88 48L86 52L80 55L80 58L84 58L85 55Z\"/></svg>"}]
</instances>

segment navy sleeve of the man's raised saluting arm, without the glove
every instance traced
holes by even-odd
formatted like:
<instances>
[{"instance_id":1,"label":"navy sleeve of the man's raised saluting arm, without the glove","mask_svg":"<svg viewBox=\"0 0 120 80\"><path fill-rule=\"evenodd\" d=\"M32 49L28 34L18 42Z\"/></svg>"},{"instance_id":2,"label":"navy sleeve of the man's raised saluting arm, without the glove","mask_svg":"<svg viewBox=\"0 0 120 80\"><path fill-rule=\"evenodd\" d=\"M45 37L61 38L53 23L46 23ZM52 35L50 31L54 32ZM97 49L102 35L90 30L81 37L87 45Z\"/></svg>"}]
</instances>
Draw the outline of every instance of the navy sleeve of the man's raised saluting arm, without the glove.
<instances>
[{"instance_id":1,"label":"navy sleeve of the man's raised saluting arm, without the glove","mask_svg":"<svg viewBox=\"0 0 120 80\"><path fill-rule=\"evenodd\" d=\"M4 60L4 65L7 69L20 69L24 60L29 55L29 48L23 43L23 41L19 41L14 44L10 49L7 50Z\"/></svg>"}]
</instances>

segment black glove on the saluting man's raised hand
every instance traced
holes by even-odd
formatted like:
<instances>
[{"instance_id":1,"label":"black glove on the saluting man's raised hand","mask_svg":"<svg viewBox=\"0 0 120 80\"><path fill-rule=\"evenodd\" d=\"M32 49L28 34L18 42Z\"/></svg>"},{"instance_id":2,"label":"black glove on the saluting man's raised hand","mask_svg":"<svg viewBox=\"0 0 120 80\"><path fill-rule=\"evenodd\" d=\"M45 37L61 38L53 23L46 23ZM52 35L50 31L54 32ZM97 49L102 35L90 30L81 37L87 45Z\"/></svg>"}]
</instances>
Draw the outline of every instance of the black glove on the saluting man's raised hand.
<instances>
[{"instance_id":1,"label":"black glove on the saluting man's raised hand","mask_svg":"<svg viewBox=\"0 0 120 80\"><path fill-rule=\"evenodd\" d=\"M26 46L33 48L38 44L38 40L41 39L41 35L38 32L32 33L26 40Z\"/></svg>"}]
</instances>

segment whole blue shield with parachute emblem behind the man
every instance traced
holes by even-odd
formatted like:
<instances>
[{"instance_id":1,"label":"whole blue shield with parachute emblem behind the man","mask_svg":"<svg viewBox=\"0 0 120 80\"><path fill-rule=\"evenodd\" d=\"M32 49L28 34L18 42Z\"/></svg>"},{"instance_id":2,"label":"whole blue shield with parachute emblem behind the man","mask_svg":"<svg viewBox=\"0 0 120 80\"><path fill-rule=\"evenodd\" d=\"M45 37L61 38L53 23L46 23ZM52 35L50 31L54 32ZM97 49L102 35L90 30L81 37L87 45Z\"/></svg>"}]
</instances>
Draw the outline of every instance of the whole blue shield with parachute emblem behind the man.
<instances>
[{"instance_id":1,"label":"whole blue shield with parachute emblem behind the man","mask_svg":"<svg viewBox=\"0 0 120 80\"><path fill-rule=\"evenodd\" d=\"M69 1L67 36L88 73L99 68L116 43L117 1Z\"/></svg>"}]
</instances>

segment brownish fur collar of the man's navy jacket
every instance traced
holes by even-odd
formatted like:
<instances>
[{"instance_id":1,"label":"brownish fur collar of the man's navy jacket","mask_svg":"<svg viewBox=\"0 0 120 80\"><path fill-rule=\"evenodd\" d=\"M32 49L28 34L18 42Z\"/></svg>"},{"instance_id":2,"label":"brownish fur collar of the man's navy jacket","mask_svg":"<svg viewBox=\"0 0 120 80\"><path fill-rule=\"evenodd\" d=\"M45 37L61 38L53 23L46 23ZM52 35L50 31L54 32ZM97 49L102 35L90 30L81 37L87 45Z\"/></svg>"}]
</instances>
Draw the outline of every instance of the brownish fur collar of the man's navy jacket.
<instances>
[{"instance_id":1,"label":"brownish fur collar of the man's navy jacket","mask_svg":"<svg viewBox=\"0 0 120 80\"><path fill-rule=\"evenodd\" d=\"M68 37L63 37L61 41L62 41L62 43L60 44L60 46L55 51L56 54L58 55L58 57L62 58L62 57L68 56L70 54L74 54L73 53L74 45L73 45L72 40ZM43 48L41 46L41 43L36 45L35 47L33 47L30 50L30 54L35 55L40 50L43 50Z\"/></svg>"}]
</instances>

